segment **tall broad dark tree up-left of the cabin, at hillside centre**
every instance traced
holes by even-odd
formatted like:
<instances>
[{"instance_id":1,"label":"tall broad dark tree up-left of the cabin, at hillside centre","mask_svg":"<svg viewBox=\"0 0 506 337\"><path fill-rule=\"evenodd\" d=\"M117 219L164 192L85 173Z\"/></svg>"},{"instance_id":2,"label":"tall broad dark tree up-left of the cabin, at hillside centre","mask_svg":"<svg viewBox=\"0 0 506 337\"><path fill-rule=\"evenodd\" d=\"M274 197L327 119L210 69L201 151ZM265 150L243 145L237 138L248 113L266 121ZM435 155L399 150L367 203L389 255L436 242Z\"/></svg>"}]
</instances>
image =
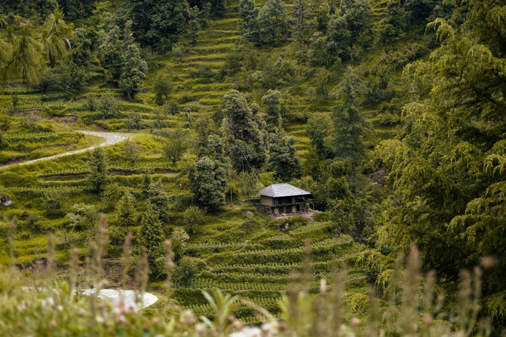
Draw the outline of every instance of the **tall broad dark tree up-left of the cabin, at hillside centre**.
<instances>
[{"instance_id":1,"label":"tall broad dark tree up-left of the cabin, at hillside centre","mask_svg":"<svg viewBox=\"0 0 506 337\"><path fill-rule=\"evenodd\" d=\"M267 160L264 138L239 91L229 90L224 95L223 114L221 130L232 166L237 171L248 170L248 165L260 168Z\"/></svg>"}]
</instances>

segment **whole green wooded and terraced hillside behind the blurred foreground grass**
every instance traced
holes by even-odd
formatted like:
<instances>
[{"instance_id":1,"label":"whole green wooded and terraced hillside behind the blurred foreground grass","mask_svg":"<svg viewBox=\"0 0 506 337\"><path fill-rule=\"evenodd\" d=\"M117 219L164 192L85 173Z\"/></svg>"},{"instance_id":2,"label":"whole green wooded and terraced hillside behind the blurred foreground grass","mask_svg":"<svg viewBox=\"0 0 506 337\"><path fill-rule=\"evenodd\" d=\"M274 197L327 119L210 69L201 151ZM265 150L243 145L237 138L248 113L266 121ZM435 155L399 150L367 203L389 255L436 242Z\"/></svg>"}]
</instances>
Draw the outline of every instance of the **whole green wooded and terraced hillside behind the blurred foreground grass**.
<instances>
[{"instance_id":1,"label":"whole green wooded and terraced hillside behind the blurred foreground grass","mask_svg":"<svg viewBox=\"0 0 506 337\"><path fill-rule=\"evenodd\" d=\"M0 261L47 258L40 247L55 233L66 265L70 246L93 245L103 213L107 258L134 232L154 286L173 237L184 283L173 296L201 305L196 288L247 283L245 266L299 267L302 236L322 263L313 277L328 274L323 263L346 254L327 235L352 235L366 248L348 262L385 299L396 256L414 243L450 298L462 269L484 267L481 304L498 334L505 17L504 0L5 1L0 163L13 166L0 168ZM133 136L15 165L100 142L82 129ZM274 182L311 191L315 221L251 213L246 202ZM286 288L285 274L266 275L263 289L232 288L262 303Z\"/></svg>"}]
</instances>

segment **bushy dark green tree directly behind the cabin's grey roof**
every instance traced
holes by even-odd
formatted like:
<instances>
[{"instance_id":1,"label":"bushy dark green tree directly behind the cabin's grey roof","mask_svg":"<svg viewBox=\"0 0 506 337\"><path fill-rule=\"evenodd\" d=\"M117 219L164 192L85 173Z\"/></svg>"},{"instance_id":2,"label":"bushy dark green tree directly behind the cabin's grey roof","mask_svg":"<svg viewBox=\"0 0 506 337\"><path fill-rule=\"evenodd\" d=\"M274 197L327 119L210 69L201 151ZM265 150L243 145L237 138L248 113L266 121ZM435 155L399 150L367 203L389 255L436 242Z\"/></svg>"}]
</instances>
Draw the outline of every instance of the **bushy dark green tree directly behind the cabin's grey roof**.
<instances>
[{"instance_id":1,"label":"bushy dark green tree directly behind the cabin's grey roof","mask_svg":"<svg viewBox=\"0 0 506 337\"><path fill-rule=\"evenodd\" d=\"M295 155L295 139L283 130L269 134L269 164L280 181L290 181L302 173L299 157Z\"/></svg>"}]
</instances>

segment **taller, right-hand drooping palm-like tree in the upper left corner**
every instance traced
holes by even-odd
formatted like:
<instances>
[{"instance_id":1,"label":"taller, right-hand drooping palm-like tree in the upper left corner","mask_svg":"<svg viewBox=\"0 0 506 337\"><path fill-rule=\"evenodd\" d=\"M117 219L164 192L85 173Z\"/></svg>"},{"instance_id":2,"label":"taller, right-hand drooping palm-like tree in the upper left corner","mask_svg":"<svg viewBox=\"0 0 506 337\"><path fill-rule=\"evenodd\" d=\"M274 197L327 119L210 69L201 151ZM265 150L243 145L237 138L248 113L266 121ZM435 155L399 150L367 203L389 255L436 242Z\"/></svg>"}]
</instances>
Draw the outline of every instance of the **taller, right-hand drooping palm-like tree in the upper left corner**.
<instances>
[{"instance_id":1,"label":"taller, right-hand drooping palm-like tree in the upper left corner","mask_svg":"<svg viewBox=\"0 0 506 337\"><path fill-rule=\"evenodd\" d=\"M73 25L67 25L63 20L63 11L56 8L44 23L39 39L43 44L44 51L48 53L51 68L56 66L56 60L66 60L70 42L68 37L72 35Z\"/></svg>"}]
</instances>

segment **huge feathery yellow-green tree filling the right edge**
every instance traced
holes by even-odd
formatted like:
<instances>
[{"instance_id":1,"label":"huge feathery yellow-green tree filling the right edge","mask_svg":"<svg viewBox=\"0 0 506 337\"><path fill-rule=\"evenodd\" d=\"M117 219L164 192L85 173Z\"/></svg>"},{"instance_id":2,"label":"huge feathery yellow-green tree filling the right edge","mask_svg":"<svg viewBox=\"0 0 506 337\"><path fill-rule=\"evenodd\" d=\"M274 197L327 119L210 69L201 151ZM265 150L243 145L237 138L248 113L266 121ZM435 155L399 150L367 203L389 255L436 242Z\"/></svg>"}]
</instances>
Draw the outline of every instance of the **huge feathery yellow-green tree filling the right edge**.
<instances>
[{"instance_id":1,"label":"huge feathery yellow-green tree filling the right edge","mask_svg":"<svg viewBox=\"0 0 506 337\"><path fill-rule=\"evenodd\" d=\"M443 19L428 25L441 45L431 62L406 70L429 81L430 97L406 105L404 130L378 148L393 195L378 219L377 245L394 255L414 242L426 268L449 279L493 256L484 290L504 296L506 6L471 0L455 15L465 20L459 30Z\"/></svg>"}]
</instances>

